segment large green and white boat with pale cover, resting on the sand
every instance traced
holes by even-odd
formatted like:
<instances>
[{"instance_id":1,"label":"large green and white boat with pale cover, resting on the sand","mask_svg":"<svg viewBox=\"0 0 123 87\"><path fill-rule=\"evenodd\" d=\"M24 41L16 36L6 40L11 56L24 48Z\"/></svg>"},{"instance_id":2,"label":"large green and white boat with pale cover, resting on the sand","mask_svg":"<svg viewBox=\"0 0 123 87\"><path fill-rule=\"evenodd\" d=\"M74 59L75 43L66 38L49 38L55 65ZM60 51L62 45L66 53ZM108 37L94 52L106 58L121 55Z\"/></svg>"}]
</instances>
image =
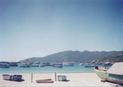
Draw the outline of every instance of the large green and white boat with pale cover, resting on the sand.
<instances>
[{"instance_id":1,"label":"large green and white boat with pale cover, resting on the sand","mask_svg":"<svg viewBox=\"0 0 123 87\"><path fill-rule=\"evenodd\" d=\"M115 63L108 70L96 67L95 72L101 78L102 81L123 85L122 66L123 62Z\"/></svg>"}]
</instances>

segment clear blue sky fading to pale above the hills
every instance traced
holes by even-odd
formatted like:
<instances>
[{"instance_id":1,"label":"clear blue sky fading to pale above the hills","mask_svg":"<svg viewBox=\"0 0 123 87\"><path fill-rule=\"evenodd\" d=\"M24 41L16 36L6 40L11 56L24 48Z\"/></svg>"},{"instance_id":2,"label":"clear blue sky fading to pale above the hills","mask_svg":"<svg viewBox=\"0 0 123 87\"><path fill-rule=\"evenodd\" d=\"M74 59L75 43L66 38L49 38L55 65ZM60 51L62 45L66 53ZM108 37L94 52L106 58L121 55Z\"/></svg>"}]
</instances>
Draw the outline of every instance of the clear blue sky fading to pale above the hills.
<instances>
[{"instance_id":1,"label":"clear blue sky fading to pale above the hills","mask_svg":"<svg viewBox=\"0 0 123 87\"><path fill-rule=\"evenodd\" d=\"M0 0L0 61L64 50L123 50L123 0Z\"/></svg>"}]
</instances>

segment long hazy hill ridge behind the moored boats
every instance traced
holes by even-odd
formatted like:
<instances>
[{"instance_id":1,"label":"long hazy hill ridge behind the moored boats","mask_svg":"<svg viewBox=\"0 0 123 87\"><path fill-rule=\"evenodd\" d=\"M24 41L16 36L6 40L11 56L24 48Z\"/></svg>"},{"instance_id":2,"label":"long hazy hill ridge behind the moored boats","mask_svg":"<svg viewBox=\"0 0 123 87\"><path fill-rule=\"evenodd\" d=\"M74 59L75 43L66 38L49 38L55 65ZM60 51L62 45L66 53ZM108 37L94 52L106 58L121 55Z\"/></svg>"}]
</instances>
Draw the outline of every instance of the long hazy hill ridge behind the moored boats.
<instances>
[{"instance_id":1,"label":"long hazy hill ridge behind the moored boats","mask_svg":"<svg viewBox=\"0 0 123 87\"><path fill-rule=\"evenodd\" d=\"M39 63L105 63L123 62L123 51L62 51L45 57L32 57L18 62L0 62L17 66L18 64L35 65ZM7 67L7 66L5 66Z\"/></svg>"}]
</instances>

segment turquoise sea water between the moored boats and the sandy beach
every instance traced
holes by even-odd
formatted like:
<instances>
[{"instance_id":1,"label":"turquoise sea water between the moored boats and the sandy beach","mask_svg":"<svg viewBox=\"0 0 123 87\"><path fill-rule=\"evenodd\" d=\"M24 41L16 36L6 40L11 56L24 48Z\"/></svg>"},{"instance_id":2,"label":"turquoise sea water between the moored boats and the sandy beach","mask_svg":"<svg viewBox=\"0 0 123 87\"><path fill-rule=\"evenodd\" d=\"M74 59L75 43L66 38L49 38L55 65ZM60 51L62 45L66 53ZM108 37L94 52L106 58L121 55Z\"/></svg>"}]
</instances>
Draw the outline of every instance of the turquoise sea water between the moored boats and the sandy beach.
<instances>
[{"instance_id":1,"label":"turquoise sea water between the moored boats and the sandy beach","mask_svg":"<svg viewBox=\"0 0 123 87\"><path fill-rule=\"evenodd\" d=\"M84 66L80 66L78 64L70 67L64 66L63 68L56 68L51 66L46 67L29 67L29 68L21 68L21 67L10 67L10 68L0 68L0 73L91 73L94 72L94 68L85 68Z\"/></svg>"}]
</instances>

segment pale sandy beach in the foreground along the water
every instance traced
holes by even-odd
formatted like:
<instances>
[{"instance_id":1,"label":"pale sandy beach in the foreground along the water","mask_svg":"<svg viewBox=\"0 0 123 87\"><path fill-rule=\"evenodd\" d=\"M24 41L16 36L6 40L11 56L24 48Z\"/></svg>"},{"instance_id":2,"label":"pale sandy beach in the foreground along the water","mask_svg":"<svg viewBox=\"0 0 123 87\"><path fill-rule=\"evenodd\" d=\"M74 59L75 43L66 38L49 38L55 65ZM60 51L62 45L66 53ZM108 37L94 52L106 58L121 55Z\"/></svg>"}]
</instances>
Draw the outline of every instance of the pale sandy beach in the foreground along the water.
<instances>
[{"instance_id":1,"label":"pale sandy beach in the foreground along the water","mask_svg":"<svg viewBox=\"0 0 123 87\"><path fill-rule=\"evenodd\" d=\"M18 73L16 73L18 74ZM0 75L0 87L115 87L109 83L103 83L95 73L57 73L57 75L66 75L68 82L55 81L54 73L34 73L31 81L30 74L23 75L23 82L6 81ZM54 83L36 83L36 80L52 79ZM120 86L119 86L120 87Z\"/></svg>"}]
</instances>

